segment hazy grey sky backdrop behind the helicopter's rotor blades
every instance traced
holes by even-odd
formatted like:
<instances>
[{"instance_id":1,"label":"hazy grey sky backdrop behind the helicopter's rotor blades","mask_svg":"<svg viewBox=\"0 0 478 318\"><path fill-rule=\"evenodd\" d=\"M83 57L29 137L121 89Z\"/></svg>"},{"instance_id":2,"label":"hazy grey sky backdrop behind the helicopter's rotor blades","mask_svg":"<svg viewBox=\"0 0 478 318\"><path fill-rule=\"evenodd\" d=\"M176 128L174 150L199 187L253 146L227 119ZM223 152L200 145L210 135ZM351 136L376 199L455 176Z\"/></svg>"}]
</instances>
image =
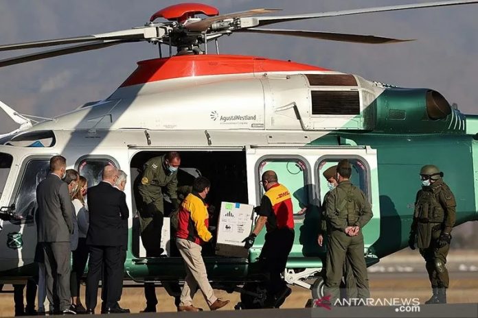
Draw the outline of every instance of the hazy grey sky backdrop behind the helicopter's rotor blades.
<instances>
[{"instance_id":1,"label":"hazy grey sky backdrop behind the helicopter's rotor blades","mask_svg":"<svg viewBox=\"0 0 478 318\"><path fill-rule=\"evenodd\" d=\"M200 0L196 0L199 2ZM411 0L209 0L222 14L280 8L300 14L368 8ZM176 1L0 0L0 45L111 32L142 26ZM272 14L268 14L272 15ZM411 38L413 42L365 45L264 34L220 38L221 53L264 56L322 66L402 87L438 90L466 114L478 114L478 4L379 12L269 25L267 28ZM211 47L210 49L213 49ZM0 59L30 53L0 52ZM113 91L136 68L157 58L147 42L0 68L0 100L23 114L55 117ZM0 134L16 128L0 111Z\"/></svg>"}]
</instances>

